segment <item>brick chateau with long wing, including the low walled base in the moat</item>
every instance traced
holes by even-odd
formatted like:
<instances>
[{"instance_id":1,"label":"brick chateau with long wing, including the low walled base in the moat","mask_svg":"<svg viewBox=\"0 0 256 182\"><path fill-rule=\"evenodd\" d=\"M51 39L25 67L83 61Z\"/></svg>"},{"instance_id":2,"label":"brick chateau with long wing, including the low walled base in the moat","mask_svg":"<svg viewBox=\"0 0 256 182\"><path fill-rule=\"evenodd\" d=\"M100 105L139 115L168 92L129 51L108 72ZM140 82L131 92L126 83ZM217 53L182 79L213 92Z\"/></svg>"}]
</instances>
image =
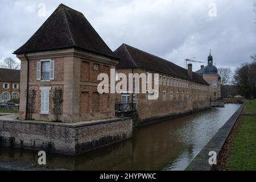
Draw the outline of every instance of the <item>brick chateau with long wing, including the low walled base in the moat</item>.
<instances>
[{"instance_id":1,"label":"brick chateau with long wing, including the low walled base in the moat","mask_svg":"<svg viewBox=\"0 0 256 182\"><path fill-rule=\"evenodd\" d=\"M192 64L184 69L126 44L113 52L82 13L62 4L14 53L21 60L19 117L0 121L3 146L78 155L133 137L135 126L210 107L209 84ZM159 75L155 99L151 90L99 91L100 74L119 73ZM145 78L137 82L150 84ZM108 82L106 90L119 85Z\"/></svg>"}]
</instances>

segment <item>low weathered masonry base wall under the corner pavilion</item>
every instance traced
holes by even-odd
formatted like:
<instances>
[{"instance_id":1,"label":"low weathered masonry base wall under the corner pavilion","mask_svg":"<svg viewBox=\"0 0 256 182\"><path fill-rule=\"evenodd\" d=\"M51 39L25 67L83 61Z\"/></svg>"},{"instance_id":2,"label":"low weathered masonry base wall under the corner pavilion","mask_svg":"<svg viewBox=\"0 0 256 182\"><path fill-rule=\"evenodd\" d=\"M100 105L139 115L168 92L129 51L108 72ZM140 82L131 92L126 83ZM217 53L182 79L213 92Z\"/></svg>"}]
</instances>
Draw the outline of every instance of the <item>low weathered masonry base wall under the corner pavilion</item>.
<instances>
[{"instance_id":1,"label":"low weathered masonry base wall under the corner pavilion","mask_svg":"<svg viewBox=\"0 0 256 182\"><path fill-rule=\"evenodd\" d=\"M115 118L73 124L0 121L0 145L79 155L132 137L133 120Z\"/></svg>"}]
</instances>

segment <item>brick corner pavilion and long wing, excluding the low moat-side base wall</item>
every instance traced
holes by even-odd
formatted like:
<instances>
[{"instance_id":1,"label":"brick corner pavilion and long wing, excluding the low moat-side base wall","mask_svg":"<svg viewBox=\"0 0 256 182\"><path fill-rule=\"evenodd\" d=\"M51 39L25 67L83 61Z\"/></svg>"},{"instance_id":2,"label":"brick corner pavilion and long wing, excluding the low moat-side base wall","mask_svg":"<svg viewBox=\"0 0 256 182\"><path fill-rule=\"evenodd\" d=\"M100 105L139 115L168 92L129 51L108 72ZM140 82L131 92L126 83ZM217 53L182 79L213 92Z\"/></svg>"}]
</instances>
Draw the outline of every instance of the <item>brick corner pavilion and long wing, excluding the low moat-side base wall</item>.
<instances>
[{"instance_id":1,"label":"brick corner pavilion and long wing, excluding the low moat-side base wall","mask_svg":"<svg viewBox=\"0 0 256 182\"><path fill-rule=\"evenodd\" d=\"M184 69L126 44L112 52L83 14L62 4L14 53L21 60L19 119L76 123L133 111L140 125L210 107L209 84L192 64ZM159 97L98 93L98 75L115 68L159 73Z\"/></svg>"}]
</instances>

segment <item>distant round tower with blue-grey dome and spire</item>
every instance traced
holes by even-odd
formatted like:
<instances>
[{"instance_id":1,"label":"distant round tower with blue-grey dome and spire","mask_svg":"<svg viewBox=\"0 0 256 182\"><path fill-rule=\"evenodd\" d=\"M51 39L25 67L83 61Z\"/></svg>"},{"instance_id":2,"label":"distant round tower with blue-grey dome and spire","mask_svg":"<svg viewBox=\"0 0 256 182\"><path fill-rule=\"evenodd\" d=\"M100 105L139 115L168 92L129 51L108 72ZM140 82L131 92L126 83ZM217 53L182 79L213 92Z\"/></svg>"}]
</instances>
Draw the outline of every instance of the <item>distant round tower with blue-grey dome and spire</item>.
<instances>
[{"instance_id":1,"label":"distant round tower with blue-grey dome and spire","mask_svg":"<svg viewBox=\"0 0 256 182\"><path fill-rule=\"evenodd\" d=\"M221 77L218 69L213 65L213 56L210 52L208 65L204 67L203 78L210 84L209 95L213 100L221 97Z\"/></svg>"}]
</instances>

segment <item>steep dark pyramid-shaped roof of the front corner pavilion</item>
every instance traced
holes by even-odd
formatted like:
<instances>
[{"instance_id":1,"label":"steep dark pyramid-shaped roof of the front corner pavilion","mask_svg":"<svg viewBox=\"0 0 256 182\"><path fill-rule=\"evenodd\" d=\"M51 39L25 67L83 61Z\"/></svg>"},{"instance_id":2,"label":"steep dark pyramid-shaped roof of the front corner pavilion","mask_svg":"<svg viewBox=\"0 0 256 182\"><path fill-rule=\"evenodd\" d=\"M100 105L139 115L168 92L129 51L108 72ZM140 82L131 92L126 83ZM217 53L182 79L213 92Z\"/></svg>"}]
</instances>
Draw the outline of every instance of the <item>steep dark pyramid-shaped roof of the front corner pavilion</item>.
<instances>
[{"instance_id":1,"label":"steep dark pyramid-shaped roof of the front corner pavilion","mask_svg":"<svg viewBox=\"0 0 256 182\"><path fill-rule=\"evenodd\" d=\"M61 4L38 31L14 53L81 48L117 58L85 16Z\"/></svg>"}]
</instances>

